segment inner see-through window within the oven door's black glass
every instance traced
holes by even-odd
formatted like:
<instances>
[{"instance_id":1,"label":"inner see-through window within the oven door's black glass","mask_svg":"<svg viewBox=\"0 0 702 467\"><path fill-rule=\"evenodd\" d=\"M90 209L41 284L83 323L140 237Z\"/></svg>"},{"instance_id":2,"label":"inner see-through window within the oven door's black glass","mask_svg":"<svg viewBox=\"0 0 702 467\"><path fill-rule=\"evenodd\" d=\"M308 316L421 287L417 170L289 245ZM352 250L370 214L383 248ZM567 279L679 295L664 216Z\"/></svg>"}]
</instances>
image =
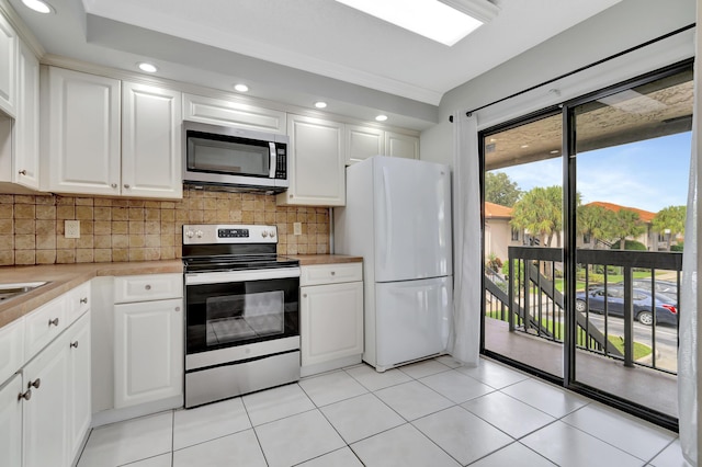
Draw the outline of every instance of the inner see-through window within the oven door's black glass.
<instances>
[{"instance_id":1,"label":"inner see-through window within the oven door's black glass","mask_svg":"<svg viewBox=\"0 0 702 467\"><path fill-rule=\"evenodd\" d=\"M207 346L283 334L284 298L283 291L207 298Z\"/></svg>"}]
</instances>

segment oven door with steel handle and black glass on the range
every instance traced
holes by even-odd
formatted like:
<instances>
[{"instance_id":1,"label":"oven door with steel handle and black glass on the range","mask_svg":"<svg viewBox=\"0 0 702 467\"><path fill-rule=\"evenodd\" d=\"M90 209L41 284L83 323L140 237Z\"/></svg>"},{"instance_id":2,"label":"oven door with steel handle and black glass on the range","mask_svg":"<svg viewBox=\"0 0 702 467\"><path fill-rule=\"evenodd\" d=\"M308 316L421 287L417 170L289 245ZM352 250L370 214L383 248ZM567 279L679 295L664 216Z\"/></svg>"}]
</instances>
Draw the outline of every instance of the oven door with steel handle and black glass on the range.
<instances>
[{"instance_id":1,"label":"oven door with steel handle and black glass on the range","mask_svg":"<svg viewBox=\"0 0 702 467\"><path fill-rule=\"evenodd\" d=\"M185 369L275 352L273 341L298 346L298 297L299 267L185 274Z\"/></svg>"}]
</instances>

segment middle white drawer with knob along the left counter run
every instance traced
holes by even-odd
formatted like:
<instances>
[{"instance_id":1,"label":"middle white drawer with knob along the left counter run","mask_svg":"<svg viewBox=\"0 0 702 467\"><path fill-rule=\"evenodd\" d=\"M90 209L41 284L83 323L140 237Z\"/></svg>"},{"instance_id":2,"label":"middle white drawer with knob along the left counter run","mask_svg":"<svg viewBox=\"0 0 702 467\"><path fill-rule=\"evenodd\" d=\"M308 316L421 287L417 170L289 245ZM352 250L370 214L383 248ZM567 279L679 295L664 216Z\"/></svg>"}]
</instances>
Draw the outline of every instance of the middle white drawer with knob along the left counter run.
<instances>
[{"instance_id":1,"label":"middle white drawer with knob along the left counter run","mask_svg":"<svg viewBox=\"0 0 702 467\"><path fill-rule=\"evenodd\" d=\"M24 357L30 361L68 326L68 294L42 305L24 317Z\"/></svg>"}]
</instances>

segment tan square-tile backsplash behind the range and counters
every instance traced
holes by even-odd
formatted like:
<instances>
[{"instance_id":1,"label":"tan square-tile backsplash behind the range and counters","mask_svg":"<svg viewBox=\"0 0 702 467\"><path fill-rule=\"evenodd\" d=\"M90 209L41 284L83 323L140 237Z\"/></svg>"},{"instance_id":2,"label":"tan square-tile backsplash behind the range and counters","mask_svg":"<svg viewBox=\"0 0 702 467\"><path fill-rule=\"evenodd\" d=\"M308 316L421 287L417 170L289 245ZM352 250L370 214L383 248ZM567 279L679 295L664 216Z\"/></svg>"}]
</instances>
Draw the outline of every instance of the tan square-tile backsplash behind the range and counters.
<instances>
[{"instance_id":1,"label":"tan square-tile backsplash behind the range and counters","mask_svg":"<svg viewBox=\"0 0 702 467\"><path fill-rule=\"evenodd\" d=\"M64 236L80 221L80 238ZM280 254L329 253L329 209L276 206L275 196L186 190L180 201L0 194L0 265L172 260L183 224L264 224ZM293 235L293 223L302 235Z\"/></svg>"}]
</instances>

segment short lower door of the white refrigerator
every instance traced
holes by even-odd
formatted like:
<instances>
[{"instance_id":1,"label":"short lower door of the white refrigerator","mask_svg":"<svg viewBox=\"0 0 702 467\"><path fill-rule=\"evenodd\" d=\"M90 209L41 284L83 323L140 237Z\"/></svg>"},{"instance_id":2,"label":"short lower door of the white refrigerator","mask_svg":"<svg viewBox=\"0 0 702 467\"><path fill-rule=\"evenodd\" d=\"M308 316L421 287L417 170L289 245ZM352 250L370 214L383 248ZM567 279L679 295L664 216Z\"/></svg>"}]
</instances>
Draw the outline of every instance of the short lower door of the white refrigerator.
<instances>
[{"instance_id":1,"label":"short lower door of the white refrigerator","mask_svg":"<svg viewBox=\"0 0 702 467\"><path fill-rule=\"evenodd\" d=\"M376 367L385 369L446 350L451 276L375 284L375 294Z\"/></svg>"}]
</instances>

